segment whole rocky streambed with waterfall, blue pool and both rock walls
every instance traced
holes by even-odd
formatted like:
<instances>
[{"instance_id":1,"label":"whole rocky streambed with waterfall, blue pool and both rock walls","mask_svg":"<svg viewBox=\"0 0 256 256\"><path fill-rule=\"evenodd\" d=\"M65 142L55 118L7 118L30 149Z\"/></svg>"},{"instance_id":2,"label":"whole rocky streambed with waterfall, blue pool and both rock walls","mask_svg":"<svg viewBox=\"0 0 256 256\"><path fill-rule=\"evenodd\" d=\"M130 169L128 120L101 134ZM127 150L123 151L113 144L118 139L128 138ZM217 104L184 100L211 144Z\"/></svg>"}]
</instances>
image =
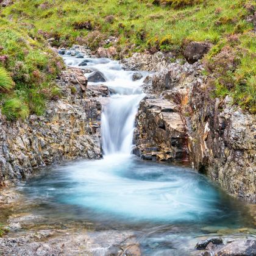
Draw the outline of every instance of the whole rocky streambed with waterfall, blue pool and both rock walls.
<instances>
[{"instance_id":1,"label":"whole rocky streambed with waterfall, blue pool and both rock walls","mask_svg":"<svg viewBox=\"0 0 256 256\"><path fill-rule=\"evenodd\" d=\"M15 124L1 117L2 182L55 164L1 190L0 222L9 233L0 238L0 252L256 254L255 205L229 196L190 165L230 194L254 201L253 116L232 107L228 98L208 98L200 63L170 63L160 52L135 54L122 60L130 70L123 71L108 59L90 64L87 49L68 51L70 67L57 80L63 98L49 102L45 116ZM102 133L102 105L109 104L104 115L113 121ZM120 108L127 109L125 104L133 106L129 113ZM126 119L127 125L118 126L122 132L108 130ZM133 152L165 162L126 154L133 123ZM102 157L102 134L108 157L82 160Z\"/></svg>"}]
</instances>

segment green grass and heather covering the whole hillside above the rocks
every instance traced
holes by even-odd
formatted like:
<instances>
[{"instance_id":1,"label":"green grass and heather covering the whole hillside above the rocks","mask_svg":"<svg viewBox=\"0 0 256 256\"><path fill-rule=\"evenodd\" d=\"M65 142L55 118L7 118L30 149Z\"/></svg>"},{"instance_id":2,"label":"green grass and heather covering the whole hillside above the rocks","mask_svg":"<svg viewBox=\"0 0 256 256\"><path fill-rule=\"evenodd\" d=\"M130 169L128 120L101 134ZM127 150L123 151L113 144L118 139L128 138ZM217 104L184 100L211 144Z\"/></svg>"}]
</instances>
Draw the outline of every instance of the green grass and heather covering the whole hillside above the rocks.
<instances>
[{"instance_id":1,"label":"green grass and heather covering the whole hillside above the rocks","mask_svg":"<svg viewBox=\"0 0 256 256\"><path fill-rule=\"evenodd\" d=\"M64 47L86 43L94 50L112 46L106 39L115 37L120 56L160 50L179 58L190 41L208 41L215 45L204 60L215 79L214 95L229 94L236 104L255 112L255 34L247 20L253 4L252 0L15 1L1 10L0 66L15 82L5 88L8 91L1 89L1 98L19 98L38 115L46 99L55 98L52 81L62 62L45 40Z\"/></svg>"}]
</instances>

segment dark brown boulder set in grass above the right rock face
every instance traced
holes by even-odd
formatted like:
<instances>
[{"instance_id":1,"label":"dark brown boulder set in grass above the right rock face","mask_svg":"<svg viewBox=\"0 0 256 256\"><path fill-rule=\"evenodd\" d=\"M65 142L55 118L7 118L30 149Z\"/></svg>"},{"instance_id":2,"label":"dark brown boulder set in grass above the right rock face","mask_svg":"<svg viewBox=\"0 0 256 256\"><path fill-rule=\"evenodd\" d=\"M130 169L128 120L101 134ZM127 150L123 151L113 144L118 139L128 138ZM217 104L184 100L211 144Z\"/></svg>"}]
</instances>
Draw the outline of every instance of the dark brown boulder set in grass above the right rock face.
<instances>
[{"instance_id":1,"label":"dark brown boulder set in grass above the right rock face","mask_svg":"<svg viewBox=\"0 0 256 256\"><path fill-rule=\"evenodd\" d=\"M202 59L204 54L206 54L210 48L212 48L211 43L191 42L184 51L184 57L188 63L193 64L197 62L197 60Z\"/></svg>"}]
</instances>

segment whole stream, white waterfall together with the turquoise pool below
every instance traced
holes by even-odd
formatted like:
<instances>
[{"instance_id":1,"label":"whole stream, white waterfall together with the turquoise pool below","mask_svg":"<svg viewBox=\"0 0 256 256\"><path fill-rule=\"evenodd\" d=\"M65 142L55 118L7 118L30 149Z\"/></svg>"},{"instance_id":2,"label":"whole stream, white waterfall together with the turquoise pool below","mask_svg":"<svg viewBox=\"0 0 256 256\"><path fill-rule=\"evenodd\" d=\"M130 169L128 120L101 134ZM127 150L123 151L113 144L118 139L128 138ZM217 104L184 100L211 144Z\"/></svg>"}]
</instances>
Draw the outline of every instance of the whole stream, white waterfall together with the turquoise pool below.
<instances>
[{"instance_id":1,"label":"whole stream, white waterfall together with the turquoise pool below","mask_svg":"<svg viewBox=\"0 0 256 256\"><path fill-rule=\"evenodd\" d=\"M77 67L83 59L64 60ZM205 237L255 228L249 204L187 163L147 162L130 153L146 72L133 81L134 71L110 59L88 59L83 68L101 71L107 81L90 85L104 84L111 91L101 119L104 158L42 168L21 182L16 190L24 201L16 213L42 217L30 221L30 229L58 226L70 233L74 227L101 245L91 254L103 256L116 234L132 235L142 255L198 255L194 246Z\"/></svg>"}]
</instances>

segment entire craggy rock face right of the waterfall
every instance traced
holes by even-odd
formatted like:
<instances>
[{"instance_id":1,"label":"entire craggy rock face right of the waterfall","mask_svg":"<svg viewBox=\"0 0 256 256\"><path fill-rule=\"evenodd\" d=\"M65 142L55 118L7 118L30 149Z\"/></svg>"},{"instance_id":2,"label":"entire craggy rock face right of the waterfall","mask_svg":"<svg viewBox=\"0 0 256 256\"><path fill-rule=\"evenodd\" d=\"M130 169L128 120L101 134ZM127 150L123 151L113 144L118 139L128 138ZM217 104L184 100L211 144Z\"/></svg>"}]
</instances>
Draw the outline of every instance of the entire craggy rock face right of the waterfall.
<instances>
[{"instance_id":1,"label":"entire craggy rock face right of the waterfall","mask_svg":"<svg viewBox=\"0 0 256 256\"><path fill-rule=\"evenodd\" d=\"M156 56L132 57L125 67L143 59L149 70ZM135 154L148 160L184 160L187 154L204 172L236 197L256 201L255 115L232 105L229 97L211 97L209 77L199 62L169 63L162 55L156 73L146 77L149 99L140 104ZM161 69L161 63L163 68ZM161 71L159 71L161 70Z\"/></svg>"}]
</instances>

